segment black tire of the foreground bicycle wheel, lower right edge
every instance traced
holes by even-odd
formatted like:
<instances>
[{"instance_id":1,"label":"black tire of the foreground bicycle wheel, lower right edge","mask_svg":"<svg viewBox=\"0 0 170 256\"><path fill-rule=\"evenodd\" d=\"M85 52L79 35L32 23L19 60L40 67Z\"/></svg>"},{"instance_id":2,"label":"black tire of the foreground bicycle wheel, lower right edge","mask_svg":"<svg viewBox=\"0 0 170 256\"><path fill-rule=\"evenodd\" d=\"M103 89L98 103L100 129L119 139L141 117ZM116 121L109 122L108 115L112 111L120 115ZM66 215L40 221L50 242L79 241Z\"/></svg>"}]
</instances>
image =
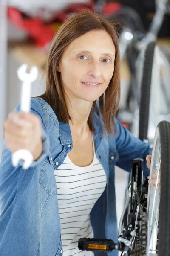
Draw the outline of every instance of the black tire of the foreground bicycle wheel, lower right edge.
<instances>
[{"instance_id":1,"label":"black tire of the foreground bicycle wheel, lower right edge","mask_svg":"<svg viewBox=\"0 0 170 256\"><path fill-rule=\"evenodd\" d=\"M159 132L158 132L159 130ZM159 242L158 242L158 256L170 256L170 122L161 121L156 128L157 135L154 138L154 145L156 141L160 141L160 154L161 154L161 180L160 180L160 201L159 201ZM155 146L154 146L155 147ZM154 148L153 147L153 148ZM158 145L157 145L158 147ZM154 159L155 152L153 151L152 157ZM150 169L150 175L153 170ZM152 185L149 185L152 186ZM150 187L151 189L151 187ZM148 189L148 191L151 191ZM150 198L150 195L148 195ZM150 199L151 200L151 199ZM152 200L151 200L152 203ZM147 206L148 207L148 206ZM149 207L147 208L149 209ZM148 212L152 214L152 211ZM149 215L148 218L149 220ZM156 220L157 221L157 220ZM147 224L149 228L149 224ZM151 233L148 233L149 235ZM155 240L157 237L155 237ZM149 237L147 241L150 241ZM156 250L156 248L155 248ZM150 244L147 244L147 256L150 255ZM151 254L152 255L152 254Z\"/></svg>"}]
</instances>

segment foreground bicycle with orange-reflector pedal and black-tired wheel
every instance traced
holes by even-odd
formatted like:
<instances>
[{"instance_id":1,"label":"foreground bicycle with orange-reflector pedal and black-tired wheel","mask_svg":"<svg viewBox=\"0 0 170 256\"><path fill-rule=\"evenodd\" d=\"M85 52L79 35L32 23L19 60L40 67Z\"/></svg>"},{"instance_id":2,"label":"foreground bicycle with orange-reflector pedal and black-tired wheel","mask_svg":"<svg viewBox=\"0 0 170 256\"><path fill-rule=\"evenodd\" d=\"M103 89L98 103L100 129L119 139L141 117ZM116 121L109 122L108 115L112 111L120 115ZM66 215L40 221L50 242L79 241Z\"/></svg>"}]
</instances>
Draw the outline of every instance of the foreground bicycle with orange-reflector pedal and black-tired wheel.
<instances>
[{"instance_id":1,"label":"foreground bicycle with orange-reflector pedal and black-tired wheel","mask_svg":"<svg viewBox=\"0 0 170 256\"><path fill-rule=\"evenodd\" d=\"M118 241L79 239L79 250L111 252L122 256L168 256L170 252L170 122L156 127L150 176L143 177L143 159L133 160L126 204L119 223ZM156 171L155 188L148 179ZM161 181L158 184L161 172ZM159 209L160 205L160 209Z\"/></svg>"}]
</instances>

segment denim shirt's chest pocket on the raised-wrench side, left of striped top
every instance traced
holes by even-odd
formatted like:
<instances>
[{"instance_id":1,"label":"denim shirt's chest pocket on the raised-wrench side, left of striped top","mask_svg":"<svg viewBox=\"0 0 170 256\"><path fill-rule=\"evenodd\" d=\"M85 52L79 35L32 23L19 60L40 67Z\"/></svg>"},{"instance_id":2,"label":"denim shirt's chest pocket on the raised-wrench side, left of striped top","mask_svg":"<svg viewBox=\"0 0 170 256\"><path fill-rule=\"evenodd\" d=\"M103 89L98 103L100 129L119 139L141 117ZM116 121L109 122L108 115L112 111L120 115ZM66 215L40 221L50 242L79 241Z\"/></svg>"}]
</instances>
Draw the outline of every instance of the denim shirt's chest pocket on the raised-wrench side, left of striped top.
<instances>
[{"instance_id":1,"label":"denim shirt's chest pocket on the raised-wrench side, left of striped top","mask_svg":"<svg viewBox=\"0 0 170 256\"><path fill-rule=\"evenodd\" d=\"M57 195L54 166L50 151L42 163L39 183L48 195Z\"/></svg>"}]
</instances>

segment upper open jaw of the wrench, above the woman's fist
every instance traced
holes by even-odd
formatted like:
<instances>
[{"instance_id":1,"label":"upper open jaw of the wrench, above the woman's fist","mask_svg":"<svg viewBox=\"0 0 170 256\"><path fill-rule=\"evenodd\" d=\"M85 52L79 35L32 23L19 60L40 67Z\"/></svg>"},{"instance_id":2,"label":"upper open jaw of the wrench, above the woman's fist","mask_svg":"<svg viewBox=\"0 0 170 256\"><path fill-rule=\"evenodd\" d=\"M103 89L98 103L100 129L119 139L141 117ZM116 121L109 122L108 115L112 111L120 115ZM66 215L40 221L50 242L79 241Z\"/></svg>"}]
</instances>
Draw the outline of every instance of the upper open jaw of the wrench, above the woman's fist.
<instances>
[{"instance_id":1,"label":"upper open jaw of the wrench, above the woman's fist","mask_svg":"<svg viewBox=\"0 0 170 256\"><path fill-rule=\"evenodd\" d=\"M36 66L32 66L30 73L26 73L28 64L23 64L19 69L17 70L17 76L19 79L23 82L29 82L32 83L37 79L38 76L38 68Z\"/></svg>"}]
</instances>

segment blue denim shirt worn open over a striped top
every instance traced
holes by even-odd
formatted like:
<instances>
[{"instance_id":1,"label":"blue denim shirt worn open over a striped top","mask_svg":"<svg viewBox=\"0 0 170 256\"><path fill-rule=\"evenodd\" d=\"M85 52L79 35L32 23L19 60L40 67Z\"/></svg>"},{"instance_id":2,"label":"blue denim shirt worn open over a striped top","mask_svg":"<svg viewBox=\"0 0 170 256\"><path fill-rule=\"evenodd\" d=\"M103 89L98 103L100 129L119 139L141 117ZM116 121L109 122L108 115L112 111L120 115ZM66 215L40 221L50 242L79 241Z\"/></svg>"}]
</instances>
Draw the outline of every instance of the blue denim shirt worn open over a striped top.
<instances>
[{"instance_id":1,"label":"blue denim shirt worn open over a striped top","mask_svg":"<svg viewBox=\"0 0 170 256\"><path fill-rule=\"evenodd\" d=\"M20 104L14 112L20 111ZM0 164L0 255L1 256L62 256L60 218L54 169L59 167L73 148L68 124L57 119L55 110L41 98L31 99L31 113L42 123L43 152L28 169L12 166L11 151L3 142ZM134 158L144 159L144 174L148 175L145 157L152 153L150 145L134 137L115 118L116 137L107 136L99 126L98 108L93 132L96 156L102 164L107 186L90 213L95 238L112 239L117 243L117 221L114 169L115 165L131 171ZM102 127L104 123L100 118ZM81 148L80 148L81 150ZM88 255L88 252L85 252ZM98 253L95 256L117 256Z\"/></svg>"}]
</instances>

